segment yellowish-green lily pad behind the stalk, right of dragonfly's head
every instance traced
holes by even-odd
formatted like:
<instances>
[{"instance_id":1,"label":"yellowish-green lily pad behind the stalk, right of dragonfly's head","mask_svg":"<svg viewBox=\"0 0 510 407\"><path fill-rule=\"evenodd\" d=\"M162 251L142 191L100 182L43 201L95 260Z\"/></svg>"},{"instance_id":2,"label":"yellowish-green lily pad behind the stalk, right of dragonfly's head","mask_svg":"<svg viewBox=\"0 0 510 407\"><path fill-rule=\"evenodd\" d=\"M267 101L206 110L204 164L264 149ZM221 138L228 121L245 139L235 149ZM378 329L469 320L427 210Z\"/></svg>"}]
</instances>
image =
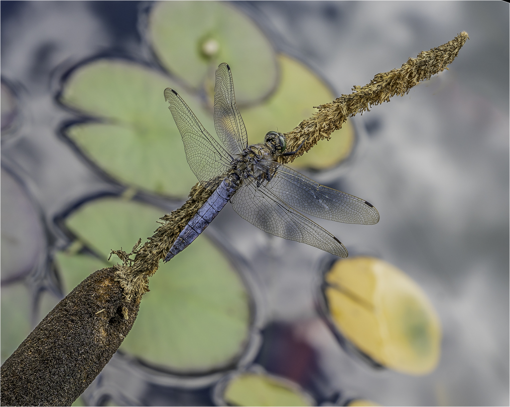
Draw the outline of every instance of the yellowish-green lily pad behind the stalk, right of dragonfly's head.
<instances>
[{"instance_id":1,"label":"yellowish-green lily pad behind the stalk, right of dragonfly's head","mask_svg":"<svg viewBox=\"0 0 510 407\"><path fill-rule=\"evenodd\" d=\"M278 62L282 77L275 93L262 105L240 109L249 144L262 142L271 130L290 132L317 111L314 106L334 99L327 85L300 62L283 54L278 56ZM296 159L292 166L314 169L334 167L350 154L353 145L354 131L347 121L342 129L331 134L329 141L319 142Z\"/></svg>"}]
</instances>

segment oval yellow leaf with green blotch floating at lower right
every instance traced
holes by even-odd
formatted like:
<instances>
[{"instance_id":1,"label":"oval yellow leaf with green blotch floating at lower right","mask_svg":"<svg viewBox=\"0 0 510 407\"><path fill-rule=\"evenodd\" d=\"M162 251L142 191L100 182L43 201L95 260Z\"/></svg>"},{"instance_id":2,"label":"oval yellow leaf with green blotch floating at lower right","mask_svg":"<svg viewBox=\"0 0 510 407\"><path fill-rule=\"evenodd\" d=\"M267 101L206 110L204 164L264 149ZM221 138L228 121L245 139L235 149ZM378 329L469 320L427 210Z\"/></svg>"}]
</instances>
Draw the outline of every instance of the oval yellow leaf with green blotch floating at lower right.
<instances>
[{"instance_id":1,"label":"oval yellow leaf with green blotch floating at lower right","mask_svg":"<svg viewBox=\"0 0 510 407\"><path fill-rule=\"evenodd\" d=\"M337 261L326 273L325 298L340 332L376 362L408 374L436 368L441 325L420 287L379 259Z\"/></svg>"}]
</instances>

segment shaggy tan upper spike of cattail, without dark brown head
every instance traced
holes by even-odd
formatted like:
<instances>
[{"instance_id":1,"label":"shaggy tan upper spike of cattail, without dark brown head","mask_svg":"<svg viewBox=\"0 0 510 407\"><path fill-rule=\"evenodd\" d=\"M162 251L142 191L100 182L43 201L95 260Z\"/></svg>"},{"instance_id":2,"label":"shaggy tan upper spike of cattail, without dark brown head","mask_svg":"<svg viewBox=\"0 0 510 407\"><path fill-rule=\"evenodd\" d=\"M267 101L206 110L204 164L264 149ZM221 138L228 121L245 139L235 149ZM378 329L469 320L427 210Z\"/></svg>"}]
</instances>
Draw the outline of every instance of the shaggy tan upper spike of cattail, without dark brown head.
<instances>
[{"instance_id":1,"label":"shaggy tan upper spike of cattail, without dark brown head","mask_svg":"<svg viewBox=\"0 0 510 407\"><path fill-rule=\"evenodd\" d=\"M417 83L448 69L447 65L453 62L467 39L468 34L462 32L446 44L423 51L417 58L409 58L400 68L378 73L368 85L354 86L351 94L319 106L317 113L286 134L289 151L295 150L303 141L304 144L297 154L280 157L281 162L291 162L320 140L329 140L331 133L342 128L347 117L369 111L372 105L389 101L392 96L403 96ZM119 268L117 275L128 298L140 298L146 292L148 277L157 271L159 261L166 256L184 226L211 194L212 190L197 183L190 192L190 199L181 208L161 218L166 224L160 226L136 252L133 264Z\"/></svg>"}]
</instances>

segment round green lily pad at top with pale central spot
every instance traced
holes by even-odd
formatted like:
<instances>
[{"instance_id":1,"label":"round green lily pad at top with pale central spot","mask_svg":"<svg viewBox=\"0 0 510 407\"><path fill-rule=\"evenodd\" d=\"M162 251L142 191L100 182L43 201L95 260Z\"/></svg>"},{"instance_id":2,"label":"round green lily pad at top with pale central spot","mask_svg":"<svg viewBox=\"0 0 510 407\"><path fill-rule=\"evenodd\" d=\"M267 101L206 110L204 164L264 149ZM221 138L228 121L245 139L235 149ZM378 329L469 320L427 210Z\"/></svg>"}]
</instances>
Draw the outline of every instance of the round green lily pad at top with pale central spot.
<instances>
[{"instance_id":1,"label":"round green lily pad at top with pale central spot","mask_svg":"<svg viewBox=\"0 0 510 407\"><path fill-rule=\"evenodd\" d=\"M222 62L232 68L238 104L264 98L276 84L271 43L231 4L158 3L150 12L148 32L162 64L192 88L214 87Z\"/></svg>"}]
</instances>

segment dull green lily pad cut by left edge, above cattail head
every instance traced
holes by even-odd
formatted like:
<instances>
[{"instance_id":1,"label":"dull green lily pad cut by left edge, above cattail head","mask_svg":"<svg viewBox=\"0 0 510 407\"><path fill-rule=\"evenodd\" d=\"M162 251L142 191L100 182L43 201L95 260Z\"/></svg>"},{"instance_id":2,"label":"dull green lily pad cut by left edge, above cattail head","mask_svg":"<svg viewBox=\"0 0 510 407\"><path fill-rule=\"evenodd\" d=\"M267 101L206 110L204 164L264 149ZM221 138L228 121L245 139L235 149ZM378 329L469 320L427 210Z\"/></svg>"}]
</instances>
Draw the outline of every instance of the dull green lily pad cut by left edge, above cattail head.
<instances>
[{"instance_id":1,"label":"dull green lily pad cut by left edge, above cattail head","mask_svg":"<svg viewBox=\"0 0 510 407\"><path fill-rule=\"evenodd\" d=\"M22 284L2 287L0 296L1 363L10 357L31 332L31 304L27 288Z\"/></svg>"}]
</instances>

